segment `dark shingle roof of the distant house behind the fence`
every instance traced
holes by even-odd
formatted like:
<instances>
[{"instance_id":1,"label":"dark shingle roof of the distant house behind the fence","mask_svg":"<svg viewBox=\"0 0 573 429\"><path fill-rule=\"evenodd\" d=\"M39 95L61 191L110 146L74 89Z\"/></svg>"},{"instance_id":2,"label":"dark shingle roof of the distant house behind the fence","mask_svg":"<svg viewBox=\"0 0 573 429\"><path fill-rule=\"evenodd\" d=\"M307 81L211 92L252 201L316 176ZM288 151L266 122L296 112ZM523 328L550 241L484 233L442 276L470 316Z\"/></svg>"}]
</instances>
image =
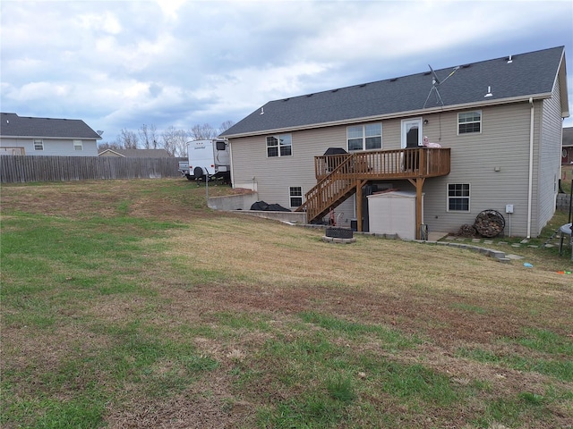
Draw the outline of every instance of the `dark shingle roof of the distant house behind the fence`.
<instances>
[{"instance_id":1,"label":"dark shingle roof of the distant house behind the fence","mask_svg":"<svg viewBox=\"0 0 573 429\"><path fill-rule=\"evenodd\" d=\"M31 118L0 114L0 136L28 139L101 139L80 119Z\"/></svg>"}]
</instances>

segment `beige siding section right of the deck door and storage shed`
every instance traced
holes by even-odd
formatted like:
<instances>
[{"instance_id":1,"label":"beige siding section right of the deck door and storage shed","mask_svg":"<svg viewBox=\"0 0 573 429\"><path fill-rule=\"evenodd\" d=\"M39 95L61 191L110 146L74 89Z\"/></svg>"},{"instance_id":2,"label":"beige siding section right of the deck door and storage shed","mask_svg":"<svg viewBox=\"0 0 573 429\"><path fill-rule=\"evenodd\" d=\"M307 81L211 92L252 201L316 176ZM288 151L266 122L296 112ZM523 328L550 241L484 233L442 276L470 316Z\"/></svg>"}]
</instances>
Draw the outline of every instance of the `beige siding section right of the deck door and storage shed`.
<instances>
[{"instance_id":1,"label":"beige siding section right of the deck door and storage shed","mask_svg":"<svg viewBox=\"0 0 573 429\"><path fill-rule=\"evenodd\" d=\"M482 132L459 136L458 114L441 115L440 144L451 148L451 172L424 182L424 223L430 231L456 232L464 223L473 224L483 210L493 209L506 218L506 234L510 221L511 234L523 236L527 218L528 104L486 107L481 111ZM424 134L438 141L429 128L426 126ZM496 167L499 172L495 172ZM469 183L469 212L448 211L449 183ZM508 204L514 206L511 219L505 214Z\"/></svg>"}]
</instances>

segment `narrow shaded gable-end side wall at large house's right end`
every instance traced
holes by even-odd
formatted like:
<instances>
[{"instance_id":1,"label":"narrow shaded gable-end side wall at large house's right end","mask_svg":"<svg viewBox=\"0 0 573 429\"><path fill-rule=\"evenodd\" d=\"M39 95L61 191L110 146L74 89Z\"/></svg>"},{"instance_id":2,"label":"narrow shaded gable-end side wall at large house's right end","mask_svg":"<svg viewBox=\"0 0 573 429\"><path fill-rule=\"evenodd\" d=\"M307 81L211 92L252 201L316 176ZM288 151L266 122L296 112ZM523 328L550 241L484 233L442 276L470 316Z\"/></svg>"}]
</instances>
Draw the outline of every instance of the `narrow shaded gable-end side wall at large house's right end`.
<instances>
[{"instance_id":1,"label":"narrow shaded gable-end side wall at large house's right end","mask_svg":"<svg viewBox=\"0 0 573 429\"><path fill-rule=\"evenodd\" d=\"M560 178L560 149L562 122L560 118L560 83L556 80L552 97L543 100L541 115L541 144L539 146L539 193L535 233L541 232L555 213L555 204Z\"/></svg>"}]
</instances>

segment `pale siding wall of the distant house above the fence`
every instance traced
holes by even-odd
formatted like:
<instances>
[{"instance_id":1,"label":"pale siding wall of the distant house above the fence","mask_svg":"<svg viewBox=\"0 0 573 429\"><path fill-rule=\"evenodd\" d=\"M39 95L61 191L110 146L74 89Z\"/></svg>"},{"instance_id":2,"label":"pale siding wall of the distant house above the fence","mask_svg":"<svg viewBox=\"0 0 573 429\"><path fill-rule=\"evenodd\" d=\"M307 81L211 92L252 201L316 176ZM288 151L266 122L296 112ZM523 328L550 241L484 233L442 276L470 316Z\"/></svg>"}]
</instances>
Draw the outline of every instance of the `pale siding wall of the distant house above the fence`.
<instances>
[{"instance_id":1,"label":"pale siding wall of the distant house above the fence","mask_svg":"<svg viewBox=\"0 0 573 429\"><path fill-rule=\"evenodd\" d=\"M34 140L44 141L44 150L34 149ZM78 139L83 150L75 150L73 139L0 139L0 147L23 147L27 156L98 156L95 139Z\"/></svg>"}]
</instances>

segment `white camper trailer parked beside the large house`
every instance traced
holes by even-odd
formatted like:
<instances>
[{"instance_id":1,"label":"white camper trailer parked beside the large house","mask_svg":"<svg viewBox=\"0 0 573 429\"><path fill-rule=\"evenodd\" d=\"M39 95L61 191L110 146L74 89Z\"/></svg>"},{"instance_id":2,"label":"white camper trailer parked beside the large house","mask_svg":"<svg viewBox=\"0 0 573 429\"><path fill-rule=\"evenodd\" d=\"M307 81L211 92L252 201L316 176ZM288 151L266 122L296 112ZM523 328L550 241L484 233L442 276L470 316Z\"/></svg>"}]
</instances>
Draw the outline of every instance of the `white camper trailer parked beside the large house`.
<instances>
[{"instance_id":1,"label":"white camper trailer parked beside the large house","mask_svg":"<svg viewBox=\"0 0 573 429\"><path fill-rule=\"evenodd\" d=\"M179 171L190 180L231 180L231 156L226 140L193 140L187 142L188 164L179 163Z\"/></svg>"}]
</instances>

